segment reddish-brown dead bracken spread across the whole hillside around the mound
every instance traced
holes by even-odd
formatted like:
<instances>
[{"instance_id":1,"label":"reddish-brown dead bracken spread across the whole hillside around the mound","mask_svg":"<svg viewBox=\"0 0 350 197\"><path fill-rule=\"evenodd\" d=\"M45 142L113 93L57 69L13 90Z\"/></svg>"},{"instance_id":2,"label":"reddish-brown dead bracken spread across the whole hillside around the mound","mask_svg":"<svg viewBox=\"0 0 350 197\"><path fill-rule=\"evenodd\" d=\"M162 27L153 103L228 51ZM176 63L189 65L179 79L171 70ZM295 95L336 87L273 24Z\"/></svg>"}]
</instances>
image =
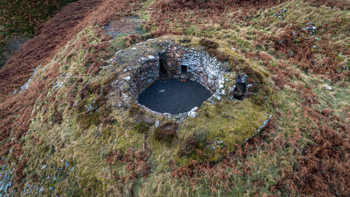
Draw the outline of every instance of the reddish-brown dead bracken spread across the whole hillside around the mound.
<instances>
[{"instance_id":1,"label":"reddish-brown dead bracken spread across the whole hillside around the mound","mask_svg":"<svg viewBox=\"0 0 350 197\"><path fill-rule=\"evenodd\" d=\"M151 30L152 27L156 27L156 29L152 30L152 35L182 35L187 28L196 25L198 28L202 28L202 31L209 31L211 25L208 24L210 23L215 24L216 29L233 28L231 23L235 22L240 25L268 27L272 21L270 16L266 17L265 21L259 22L254 22L250 19L259 10L270 8L280 3L272 1L203 2L199 0L173 0L171 2L157 0L152 6L152 17L145 24L145 29ZM317 6L331 5L331 1L310 2L316 3ZM346 3L346 1L337 1L336 6L342 9L349 8L344 2ZM35 117L37 113L32 113L35 102L48 100L52 102L52 106L59 102L55 99L57 91L51 93L49 97L47 95L48 89L52 87L49 79L55 81L60 65L58 63L54 64L45 71L44 75L47 76L47 80L32 81L26 91L14 97L10 97L8 93L22 86L29 78L31 69L37 67L40 63L45 64L52 59L61 50L62 46L65 46L68 41L75 37L84 25L105 25L110 20L118 19L120 16L132 15L140 9L141 3L142 1L132 0L81 0L77 3L72 3L49 22L43 24L37 37L25 44L10 59L8 65L2 68L0 73L0 97L2 101L0 105L0 140L4 143L1 145L0 154L1 156L7 155L9 150L12 149L13 153L10 160L18 164L15 170L15 184L21 182L22 168L27 161L27 158L20 160L20 157L23 155L20 139L26 134L31 118ZM243 9L238 9L238 6ZM72 17L72 13L76 15ZM113 13L118 13L118 15ZM180 17L173 17L175 13L180 15ZM228 14L228 18L226 18L226 15L223 13L231 14ZM334 22L339 24L342 21ZM345 21L344 23L348 22ZM272 100L276 111L260 136L252 138L247 143L244 143L243 146L237 145L236 151L233 153L228 153L227 149L223 148L219 152L224 156L220 158L222 161L218 163L194 160L189 165L183 166L177 166L176 161L169 163L169 166L172 168L172 177L181 182L190 183L190 185L209 185L208 187L212 193L217 193L220 190L228 194L231 192L231 188L235 186L230 177L235 175L249 177L253 171L250 162L259 151L263 151L272 158L277 157L278 152L283 152L287 157L281 157L281 161L287 160L289 164L280 171L281 180L275 186L268 188L270 193L296 196L349 196L349 106L341 109L341 113L346 118L337 115L335 113L336 110L329 110L329 108L334 107L330 102L326 102L328 106L324 108L321 103L325 101L319 94L316 94L315 84L306 81L303 78L305 74L298 70L300 68L303 71L308 71L310 75L322 74L333 82L344 80L349 76L349 72L335 72L341 63L341 59L336 58L336 55L337 53L343 53L349 56L349 49L343 45L329 45L329 42L332 43L334 41L327 39L327 36L324 39L322 38L319 48L316 50L310 49L315 42L310 38L300 38L299 44L295 45L295 38L291 36L293 35L292 32L296 31L296 36L301 36L301 32L297 31L296 25L289 26L282 22L274 25L276 25L275 28L283 27L283 31L278 31L279 33L275 35L252 31L251 35L245 36L247 40L255 39L255 42L252 42L254 47L264 46L271 50L270 52L272 53L259 52L254 48L251 51L246 51L244 54L247 58L256 58L265 64L265 68L271 73L270 78L274 82L274 94L279 94L282 91L286 91L286 89L293 94L293 104L300 108L298 115L293 117L290 114L290 109L293 106L285 107L279 101ZM346 33L347 30L344 29L342 33L348 35ZM320 31L335 34L337 29L332 24L329 24L328 26L320 27ZM91 53L87 54L84 66L90 66L87 71L88 75L94 75L98 72L100 67L97 61L98 57L109 54L104 48L106 48L110 37L105 36L102 30L96 30L94 34L102 40L102 43L86 47L101 54L96 55L96 51L91 51ZM209 36L209 34L207 35ZM128 41L128 44L131 45L142 39L145 39L145 37L129 36L125 38L125 41ZM279 39L282 39L283 42L279 43ZM74 49L85 46L86 42L87 38L83 37L79 42L70 45L69 48ZM269 43L272 43L271 46ZM236 44L236 41L231 42L231 44ZM290 51L294 54L292 57L290 57ZM322 61L317 61L315 58L317 53L324 56ZM64 54L64 56L69 60L71 54ZM277 59L277 56L284 57ZM293 64L298 68L295 68ZM246 72L248 72L247 69ZM252 74L255 73L253 72ZM261 82L259 76L252 78L252 80L256 80L254 82L257 84ZM346 83L344 82L344 84ZM92 85L91 91L93 92L94 89L98 89L98 87L95 86L94 88ZM82 94L83 98L85 97L84 95L85 93ZM72 104L72 101L68 102ZM49 107L49 104L44 105L45 107ZM284 108L283 110L286 110L286 112L281 112L279 108ZM135 110L137 113L139 112L136 107ZM59 114L59 112L57 113ZM291 121L294 118L302 119L302 124L295 126L292 134L282 133L280 124L283 125L286 121ZM44 119L44 121L47 120ZM119 120L118 122L123 123L123 121ZM290 123L295 124L292 121ZM166 128L161 129L165 130ZM171 132L174 129L176 128L172 127L167 132ZM174 132L170 134L174 135ZM309 140L312 140L315 144L302 143L302 138L306 138L304 136L308 135L310 136ZM11 137L15 137L15 139L10 141ZM33 137L33 143L42 143L41 139L36 136ZM164 135L160 133L159 138L162 139L163 137ZM143 148L139 149L130 148L124 152L120 150L114 151L107 157L106 161L110 164L113 178L118 184L118 189L121 193L133 195L134 183L140 177L149 175L151 169L149 155L151 154L151 150L145 144ZM201 151L198 151L198 154L202 154ZM239 169L236 166L238 162L243 163ZM37 177L34 180L37 181ZM260 195L259 189L265 187L264 181L261 178L256 178L251 183L253 195Z\"/></svg>"}]
</instances>

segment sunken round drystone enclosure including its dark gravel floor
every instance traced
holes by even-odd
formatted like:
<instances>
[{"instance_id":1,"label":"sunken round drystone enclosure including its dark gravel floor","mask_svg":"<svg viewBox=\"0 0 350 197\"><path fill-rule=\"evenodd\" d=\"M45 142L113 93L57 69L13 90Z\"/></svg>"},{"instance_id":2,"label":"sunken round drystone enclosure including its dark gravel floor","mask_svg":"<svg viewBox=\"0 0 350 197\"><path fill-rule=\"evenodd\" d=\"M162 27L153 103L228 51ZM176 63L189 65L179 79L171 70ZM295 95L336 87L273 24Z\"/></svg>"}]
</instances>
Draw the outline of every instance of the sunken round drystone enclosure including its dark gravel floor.
<instances>
[{"instance_id":1,"label":"sunken round drystone enclosure including its dark gravel floor","mask_svg":"<svg viewBox=\"0 0 350 197\"><path fill-rule=\"evenodd\" d=\"M134 98L135 103L155 115L163 115L164 113L179 114L187 112L194 107L199 107L203 104L203 101L211 100L213 97L216 99L220 97L221 99L221 95L225 92L221 89L225 79L224 75L230 71L228 63L222 63L217 61L215 57L210 57L203 47L181 47L173 44L173 42L156 40L151 39L137 44L132 49L120 52L133 54L130 59L137 58L133 60L137 61L136 65L125 69L124 72L128 75L123 76L124 80L130 82L128 92ZM145 55L145 52L141 50L148 50L150 45L156 45L156 47L153 46L152 55ZM139 56L135 55L138 53ZM123 58L125 59L125 57ZM160 67L162 66L164 67L163 71L165 70L164 75L169 79L164 83L173 83L173 87L162 88L165 89L163 95L162 92L159 92L162 89L158 88L164 85L160 80ZM162 78L164 78L164 75ZM182 83L171 79L187 82ZM159 82L153 87L152 84L157 81ZM180 86L181 84L183 87ZM151 89L146 91L149 87ZM182 89L184 91L181 91ZM169 92L167 92L168 90ZM207 92L203 90L207 90ZM140 97L144 91L145 95ZM174 93L174 91L177 92ZM156 97L158 95L159 98ZM139 99L140 102L138 102ZM183 106L180 106L180 104L183 104Z\"/></svg>"}]
</instances>

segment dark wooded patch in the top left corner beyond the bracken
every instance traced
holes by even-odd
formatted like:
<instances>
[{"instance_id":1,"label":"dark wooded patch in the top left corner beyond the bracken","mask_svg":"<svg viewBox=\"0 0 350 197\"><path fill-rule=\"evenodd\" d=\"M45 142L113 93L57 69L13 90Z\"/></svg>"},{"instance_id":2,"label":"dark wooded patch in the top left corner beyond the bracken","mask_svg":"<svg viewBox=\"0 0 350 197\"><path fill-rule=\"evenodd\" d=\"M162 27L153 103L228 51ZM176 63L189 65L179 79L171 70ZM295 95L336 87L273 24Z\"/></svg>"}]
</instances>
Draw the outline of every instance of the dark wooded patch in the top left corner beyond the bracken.
<instances>
[{"instance_id":1,"label":"dark wooded patch in the top left corner beyond the bracken","mask_svg":"<svg viewBox=\"0 0 350 197\"><path fill-rule=\"evenodd\" d=\"M35 28L76 0L3 0L0 4L0 67L35 34Z\"/></svg>"}]
</instances>

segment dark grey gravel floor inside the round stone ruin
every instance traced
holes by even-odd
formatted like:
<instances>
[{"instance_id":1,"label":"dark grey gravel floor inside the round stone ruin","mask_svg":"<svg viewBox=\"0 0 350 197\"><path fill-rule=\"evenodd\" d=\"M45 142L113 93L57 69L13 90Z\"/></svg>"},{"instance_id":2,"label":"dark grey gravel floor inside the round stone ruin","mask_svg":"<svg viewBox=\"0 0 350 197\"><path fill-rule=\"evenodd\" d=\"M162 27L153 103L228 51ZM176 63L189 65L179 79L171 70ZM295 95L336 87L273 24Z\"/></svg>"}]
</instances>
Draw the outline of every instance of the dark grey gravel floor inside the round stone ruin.
<instances>
[{"instance_id":1,"label":"dark grey gravel floor inside the round stone ruin","mask_svg":"<svg viewBox=\"0 0 350 197\"><path fill-rule=\"evenodd\" d=\"M160 93L159 90L165 92ZM211 96L201 84L188 80L160 80L153 83L139 96L139 103L161 113L179 114L199 107Z\"/></svg>"}]
</instances>

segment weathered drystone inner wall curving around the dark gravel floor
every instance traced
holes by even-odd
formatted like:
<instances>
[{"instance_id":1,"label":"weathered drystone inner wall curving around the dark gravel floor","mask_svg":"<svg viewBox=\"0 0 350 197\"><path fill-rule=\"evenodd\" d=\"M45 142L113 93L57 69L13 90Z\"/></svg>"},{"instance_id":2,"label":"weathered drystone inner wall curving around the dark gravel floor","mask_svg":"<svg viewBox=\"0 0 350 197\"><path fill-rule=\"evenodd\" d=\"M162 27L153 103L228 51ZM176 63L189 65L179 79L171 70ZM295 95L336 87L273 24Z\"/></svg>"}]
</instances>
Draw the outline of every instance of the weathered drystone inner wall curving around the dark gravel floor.
<instances>
[{"instance_id":1,"label":"weathered drystone inner wall curving around the dark gravel floor","mask_svg":"<svg viewBox=\"0 0 350 197\"><path fill-rule=\"evenodd\" d=\"M154 40L156 39L152 39L152 41ZM147 42L139 43L137 46L142 48ZM219 100L221 99L221 95L225 94L222 84L225 79L225 73L230 71L228 63L221 63L215 57L210 57L203 50L203 47L189 49L172 44L172 42L158 42L157 45L159 46L158 56L157 53L153 53L153 56L138 57L139 65L136 70L124 78L124 80L130 81L129 92L134 97L136 103L139 95L146 88L160 80L160 59L165 59L165 61L161 61L165 62L164 67L169 79L186 79L201 83L205 88L210 90L213 98ZM135 49L137 48L130 50ZM187 72L182 72L182 66L187 66ZM162 115L145 106L142 107L155 115Z\"/></svg>"}]
</instances>

